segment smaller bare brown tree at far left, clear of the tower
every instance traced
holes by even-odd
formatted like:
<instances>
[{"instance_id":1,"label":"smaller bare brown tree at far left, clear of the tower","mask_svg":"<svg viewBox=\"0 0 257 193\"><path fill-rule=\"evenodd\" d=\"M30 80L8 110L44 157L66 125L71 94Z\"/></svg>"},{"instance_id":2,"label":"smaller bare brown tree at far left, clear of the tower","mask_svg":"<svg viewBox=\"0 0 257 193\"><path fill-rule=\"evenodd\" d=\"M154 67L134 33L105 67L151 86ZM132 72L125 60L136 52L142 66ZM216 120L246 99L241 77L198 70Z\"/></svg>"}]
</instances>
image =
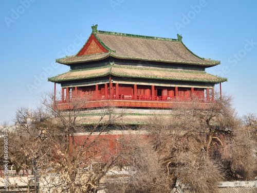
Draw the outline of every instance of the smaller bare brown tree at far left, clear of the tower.
<instances>
[{"instance_id":1,"label":"smaller bare brown tree at far left, clear of the tower","mask_svg":"<svg viewBox=\"0 0 257 193\"><path fill-rule=\"evenodd\" d=\"M50 154L50 146L41 136L44 129L41 125L42 120L48 118L49 115L42 109L31 111L25 107L18 108L14 118L16 129L8 133L10 164L14 166L18 175L21 170L33 174L33 183L22 181L28 187L33 186L35 192L39 192L39 171L48 167L47 157ZM19 184L11 186L19 188Z\"/></svg>"}]
</instances>

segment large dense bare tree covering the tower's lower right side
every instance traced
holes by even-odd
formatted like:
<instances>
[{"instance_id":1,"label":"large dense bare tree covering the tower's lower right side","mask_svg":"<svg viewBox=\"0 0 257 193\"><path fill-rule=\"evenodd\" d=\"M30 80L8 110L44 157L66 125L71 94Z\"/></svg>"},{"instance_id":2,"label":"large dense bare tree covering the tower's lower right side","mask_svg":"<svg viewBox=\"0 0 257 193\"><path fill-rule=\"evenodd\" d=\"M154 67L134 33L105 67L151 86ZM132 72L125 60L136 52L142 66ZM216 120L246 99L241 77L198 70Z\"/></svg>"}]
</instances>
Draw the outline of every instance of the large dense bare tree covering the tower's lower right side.
<instances>
[{"instance_id":1,"label":"large dense bare tree covering the tower's lower right side","mask_svg":"<svg viewBox=\"0 0 257 193\"><path fill-rule=\"evenodd\" d=\"M159 176L165 176L165 180L158 180L159 185L169 188L159 190L159 186L154 181L150 185L148 179L139 180L140 187L134 184L134 191L130 192L170 192L178 182L194 192L217 192L219 181L250 179L256 166L253 143L242 129L231 98L224 96L222 100L204 105L197 101L177 104L168 117L149 117L149 124L144 127L149 132L149 140L144 141L149 144L147 148L133 144L135 149L140 149L134 156L141 159L145 154L153 155L151 159L158 157L154 172L135 167L134 178L145 179L148 173L151 179L150 173L159 171ZM145 190L146 185L153 189Z\"/></svg>"}]
</instances>

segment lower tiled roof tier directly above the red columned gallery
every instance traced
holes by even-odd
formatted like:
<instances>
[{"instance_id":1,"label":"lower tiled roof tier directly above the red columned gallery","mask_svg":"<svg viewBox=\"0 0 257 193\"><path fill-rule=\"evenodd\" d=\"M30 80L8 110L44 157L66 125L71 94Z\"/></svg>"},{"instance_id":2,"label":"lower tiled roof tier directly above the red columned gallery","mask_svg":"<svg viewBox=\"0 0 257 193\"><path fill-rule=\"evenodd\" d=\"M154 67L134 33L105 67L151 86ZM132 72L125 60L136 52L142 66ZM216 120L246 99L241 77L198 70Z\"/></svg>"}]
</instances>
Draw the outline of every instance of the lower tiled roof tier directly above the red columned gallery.
<instances>
[{"instance_id":1,"label":"lower tiled roof tier directly above the red columned gallery","mask_svg":"<svg viewBox=\"0 0 257 193\"><path fill-rule=\"evenodd\" d=\"M226 78L214 76L204 71L185 71L178 69L160 69L145 67L127 67L108 65L104 67L71 70L67 73L48 78L51 82L65 82L74 80L84 80L89 78L98 78L107 75L118 77L173 80L173 81L192 81L192 82L211 82L219 83L227 81Z\"/></svg>"}]
</instances>

